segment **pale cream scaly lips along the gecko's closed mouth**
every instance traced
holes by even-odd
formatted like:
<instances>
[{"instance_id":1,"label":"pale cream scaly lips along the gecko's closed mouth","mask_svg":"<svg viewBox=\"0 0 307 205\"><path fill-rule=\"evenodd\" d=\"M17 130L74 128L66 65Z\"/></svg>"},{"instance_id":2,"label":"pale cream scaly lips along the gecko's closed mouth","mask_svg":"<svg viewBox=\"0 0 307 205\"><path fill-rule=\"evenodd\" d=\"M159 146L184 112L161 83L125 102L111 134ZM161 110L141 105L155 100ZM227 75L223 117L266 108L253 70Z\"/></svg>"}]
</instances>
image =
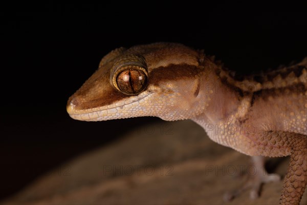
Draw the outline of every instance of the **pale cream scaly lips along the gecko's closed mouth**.
<instances>
[{"instance_id":1,"label":"pale cream scaly lips along the gecko's closed mouth","mask_svg":"<svg viewBox=\"0 0 307 205\"><path fill-rule=\"evenodd\" d=\"M144 107L142 106L147 98L152 93L144 93L143 95L140 94L138 96L129 96L126 99L122 99L113 103L111 105L86 109L86 110L79 110L76 109L76 105L74 105L73 100L67 105L67 112L71 118L81 120L81 121L103 121L109 119L121 119L121 118L130 118L132 110L136 107ZM145 110L140 110L140 114L144 113ZM135 116L137 117L137 116Z\"/></svg>"}]
</instances>

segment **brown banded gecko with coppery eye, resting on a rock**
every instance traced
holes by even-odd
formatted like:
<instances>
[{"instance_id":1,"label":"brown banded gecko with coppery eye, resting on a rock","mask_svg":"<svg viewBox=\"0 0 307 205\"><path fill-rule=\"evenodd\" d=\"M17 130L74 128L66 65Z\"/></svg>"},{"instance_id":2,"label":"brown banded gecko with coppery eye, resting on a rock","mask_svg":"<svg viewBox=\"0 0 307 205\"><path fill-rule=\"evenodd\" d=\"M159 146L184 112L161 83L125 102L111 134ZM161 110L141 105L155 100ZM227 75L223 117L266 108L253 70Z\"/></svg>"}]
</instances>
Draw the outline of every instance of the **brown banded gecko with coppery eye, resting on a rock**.
<instances>
[{"instance_id":1,"label":"brown banded gecko with coppery eye, resting on a rock","mask_svg":"<svg viewBox=\"0 0 307 205\"><path fill-rule=\"evenodd\" d=\"M121 47L101 59L69 98L67 112L83 121L191 119L213 141L254 156L255 162L258 156L290 155L280 204L299 204L306 188L307 57L239 76L203 50L182 44ZM258 179L257 185L271 180Z\"/></svg>"}]
</instances>

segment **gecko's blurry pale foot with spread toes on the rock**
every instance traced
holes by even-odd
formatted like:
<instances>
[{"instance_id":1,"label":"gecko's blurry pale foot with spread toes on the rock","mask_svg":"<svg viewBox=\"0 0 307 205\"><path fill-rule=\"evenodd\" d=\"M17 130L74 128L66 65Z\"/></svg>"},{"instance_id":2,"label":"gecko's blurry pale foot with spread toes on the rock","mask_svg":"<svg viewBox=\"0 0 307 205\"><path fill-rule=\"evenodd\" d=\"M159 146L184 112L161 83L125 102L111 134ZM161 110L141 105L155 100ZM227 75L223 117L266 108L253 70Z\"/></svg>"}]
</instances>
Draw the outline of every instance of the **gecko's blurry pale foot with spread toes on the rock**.
<instances>
[{"instance_id":1,"label":"gecko's blurry pale foot with spread toes on the rock","mask_svg":"<svg viewBox=\"0 0 307 205\"><path fill-rule=\"evenodd\" d=\"M253 165L255 171L253 175L248 175L244 185L237 188L235 191L228 191L224 194L224 201L231 201L233 198L239 196L242 192L250 190L250 198L256 199L259 197L261 185L271 181L279 181L280 176L277 174L269 174L264 169L265 158L262 156L253 156Z\"/></svg>"}]
</instances>

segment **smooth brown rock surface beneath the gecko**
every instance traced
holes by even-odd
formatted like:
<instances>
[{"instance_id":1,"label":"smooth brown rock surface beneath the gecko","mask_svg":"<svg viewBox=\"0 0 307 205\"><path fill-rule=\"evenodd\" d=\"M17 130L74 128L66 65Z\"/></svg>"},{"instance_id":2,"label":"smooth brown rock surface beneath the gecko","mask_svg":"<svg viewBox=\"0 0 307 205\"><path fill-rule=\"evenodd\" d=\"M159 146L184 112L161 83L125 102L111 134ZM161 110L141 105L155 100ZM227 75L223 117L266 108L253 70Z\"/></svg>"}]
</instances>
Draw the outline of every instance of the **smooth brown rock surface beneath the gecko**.
<instances>
[{"instance_id":1,"label":"smooth brown rock surface beneath the gecko","mask_svg":"<svg viewBox=\"0 0 307 205\"><path fill-rule=\"evenodd\" d=\"M268 158L284 176L289 158ZM253 173L248 156L211 141L192 121L160 121L63 163L1 204L278 204L282 181L230 202ZM242 174L243 173L243 174ZM305 191L301 204L307 204Z\"/></svg>"}]
</instances>

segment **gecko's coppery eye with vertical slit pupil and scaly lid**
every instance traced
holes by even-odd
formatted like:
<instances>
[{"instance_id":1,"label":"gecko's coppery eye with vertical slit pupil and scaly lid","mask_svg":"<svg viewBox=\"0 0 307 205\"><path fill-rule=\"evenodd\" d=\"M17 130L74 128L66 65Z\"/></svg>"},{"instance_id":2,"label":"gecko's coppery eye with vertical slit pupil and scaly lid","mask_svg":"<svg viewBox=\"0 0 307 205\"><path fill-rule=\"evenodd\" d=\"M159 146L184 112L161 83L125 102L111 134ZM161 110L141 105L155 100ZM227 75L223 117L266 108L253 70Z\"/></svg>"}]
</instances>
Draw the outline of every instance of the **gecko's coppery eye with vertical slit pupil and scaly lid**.
<instances>
[{"instance_id":1,"label":"gecko's coppery eye with vertical slit pupil and scaly lid","mask_svg":"<svg viewBox=\"0 0 307 205\"><path fill-rule=\"evenodd\" d=\"M111 69L111 83L126 95L137 95L147 87L147 65L137 55L120 57Z\"/></svg>"}]
</instances>

